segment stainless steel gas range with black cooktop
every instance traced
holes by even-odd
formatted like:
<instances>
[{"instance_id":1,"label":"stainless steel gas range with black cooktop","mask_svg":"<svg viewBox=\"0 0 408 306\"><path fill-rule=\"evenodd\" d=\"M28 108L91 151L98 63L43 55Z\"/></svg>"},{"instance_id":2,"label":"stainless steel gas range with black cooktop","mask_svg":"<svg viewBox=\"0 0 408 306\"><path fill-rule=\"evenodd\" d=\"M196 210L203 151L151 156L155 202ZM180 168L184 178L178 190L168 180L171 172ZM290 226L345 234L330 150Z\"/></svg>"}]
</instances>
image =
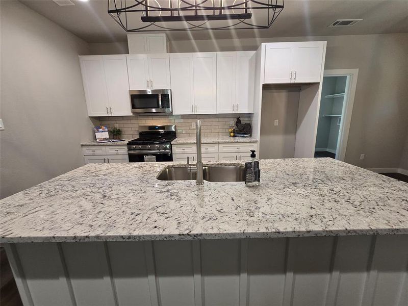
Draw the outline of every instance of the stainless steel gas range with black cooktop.
<instances>
[{"instance_id":1,"label":"stainless steel gas range with black cooktop","mask_svg":"<svg viewBox=\"0 0 408 306\"><path fill-rule=\"evenodd\" d=\"M129 162L171 162L175 125L140 125L139 138L127 143Z\"/></svg>"}]
</instances>

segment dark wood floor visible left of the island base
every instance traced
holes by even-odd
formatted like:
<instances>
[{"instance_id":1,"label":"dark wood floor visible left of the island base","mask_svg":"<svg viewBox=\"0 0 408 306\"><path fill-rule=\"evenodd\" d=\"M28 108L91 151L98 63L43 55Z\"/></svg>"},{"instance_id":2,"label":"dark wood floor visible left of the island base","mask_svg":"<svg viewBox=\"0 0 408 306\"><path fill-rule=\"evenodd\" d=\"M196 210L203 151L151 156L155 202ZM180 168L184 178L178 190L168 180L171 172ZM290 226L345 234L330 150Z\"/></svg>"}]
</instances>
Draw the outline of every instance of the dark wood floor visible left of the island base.
<instances>
[{"instance_id":1,"label":"dark wood floor visible left of the island base","mask_svg":"<svg viewBox=\"0 0 408 306\"><path fill-rule=\"evenodd\" d=\"M22 306L6 251L0 247L0 305Z\"/></svg>"}]
</instances>

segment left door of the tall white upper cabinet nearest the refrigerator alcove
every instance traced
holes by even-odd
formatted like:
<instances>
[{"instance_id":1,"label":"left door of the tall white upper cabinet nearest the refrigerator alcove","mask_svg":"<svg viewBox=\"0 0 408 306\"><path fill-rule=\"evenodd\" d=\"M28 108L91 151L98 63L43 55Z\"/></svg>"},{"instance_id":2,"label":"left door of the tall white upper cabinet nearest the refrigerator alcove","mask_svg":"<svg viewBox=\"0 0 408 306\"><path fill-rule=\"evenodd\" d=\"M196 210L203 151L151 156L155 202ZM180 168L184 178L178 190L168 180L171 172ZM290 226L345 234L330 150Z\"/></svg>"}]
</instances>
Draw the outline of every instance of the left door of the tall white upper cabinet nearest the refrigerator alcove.
<instances>
[{"instance_id":1,"label":"left door of the tall white upper cabinet nearest the refrigerator alcove","mask_svg":"<svg viewBox=\"0 0 408 306\"><path fill-rule=\"evenodd\" d=\"M235 81L236 81L236 53L217 53L217 113L236 112Z\"/></svg>"}]
</instances>

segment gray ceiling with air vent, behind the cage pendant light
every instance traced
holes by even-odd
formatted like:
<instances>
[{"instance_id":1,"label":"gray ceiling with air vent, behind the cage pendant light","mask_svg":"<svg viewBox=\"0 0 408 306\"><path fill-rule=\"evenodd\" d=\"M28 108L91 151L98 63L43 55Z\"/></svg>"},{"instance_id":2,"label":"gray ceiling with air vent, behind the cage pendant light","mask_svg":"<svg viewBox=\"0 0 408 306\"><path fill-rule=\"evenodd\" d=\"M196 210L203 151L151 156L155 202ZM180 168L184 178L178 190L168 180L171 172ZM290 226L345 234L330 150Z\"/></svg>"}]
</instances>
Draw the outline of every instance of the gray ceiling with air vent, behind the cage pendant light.
<instances>
[{"instance_id":1,"label":"gray ceiling with air vent, behind the cage pendant light","mask_svg":"<svg viewBox=\"0 0 408 306\"><path fill-rule=\"evenodd\" d=\"M108 0L71 1L74 6L63 7L51 0L21 2L87 42L126 42L126 32L107 13ZM166 33L170 40L197 40L408 32L408 0L285 0L284 3L284 10L269 29ZM350 28L328 28L336 19L364 20Z\"/></svg>"}]
</instances>

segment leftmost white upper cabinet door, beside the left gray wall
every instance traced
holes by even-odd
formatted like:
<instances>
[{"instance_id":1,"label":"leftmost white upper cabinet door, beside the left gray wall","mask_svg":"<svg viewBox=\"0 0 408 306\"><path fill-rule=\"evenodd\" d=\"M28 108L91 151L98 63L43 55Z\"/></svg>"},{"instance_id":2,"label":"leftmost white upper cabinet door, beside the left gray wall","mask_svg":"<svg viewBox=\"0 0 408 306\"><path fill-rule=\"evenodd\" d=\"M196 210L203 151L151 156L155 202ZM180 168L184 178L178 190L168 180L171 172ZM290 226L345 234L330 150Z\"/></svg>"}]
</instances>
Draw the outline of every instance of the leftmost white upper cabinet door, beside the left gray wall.
<instances>
[{"instance_id":1,"label":"leftmost white upper cabinet door, beside the left gray wall","mask_svg":"<svg viewBox=\"0 0 408 306\"><path fill-rule=\"evenodd\" d=\"M108 116L108 92L103 57L80 56L80 66L88 116Z\"/></svg>"}]
</instances>

